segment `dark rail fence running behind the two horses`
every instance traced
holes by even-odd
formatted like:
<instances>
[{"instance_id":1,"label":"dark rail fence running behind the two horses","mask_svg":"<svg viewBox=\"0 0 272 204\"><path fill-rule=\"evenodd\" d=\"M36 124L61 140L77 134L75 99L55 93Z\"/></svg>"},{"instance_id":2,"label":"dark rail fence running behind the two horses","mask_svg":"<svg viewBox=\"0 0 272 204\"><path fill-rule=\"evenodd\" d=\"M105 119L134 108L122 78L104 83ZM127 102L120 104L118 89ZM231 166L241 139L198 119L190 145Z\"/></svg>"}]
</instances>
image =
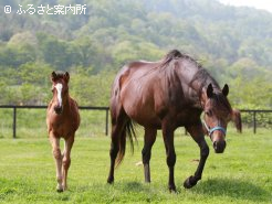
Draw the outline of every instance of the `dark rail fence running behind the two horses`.
<instances>
[{"instance_id":1,"label":"dark rail fence running behind the two horses","mask_svg":"<svg viewBox=\"0 0 272 204\"><path fill-rule=\"evenodd\" d=\"M0 106L0 108L11 108L13 109L13 138L17 137L17 109L45 109L48 106ZM102 110L105 111L105 135L108 135L108 107L88 107L80 106L83 110ZM271 114L272 110L253 110L253 109L242 109L241 112L252 114L252 126L253 132L257 133L257 115L258 114ZM1 117L1 116L0 116Z\"/></svg>"}]
</instances>

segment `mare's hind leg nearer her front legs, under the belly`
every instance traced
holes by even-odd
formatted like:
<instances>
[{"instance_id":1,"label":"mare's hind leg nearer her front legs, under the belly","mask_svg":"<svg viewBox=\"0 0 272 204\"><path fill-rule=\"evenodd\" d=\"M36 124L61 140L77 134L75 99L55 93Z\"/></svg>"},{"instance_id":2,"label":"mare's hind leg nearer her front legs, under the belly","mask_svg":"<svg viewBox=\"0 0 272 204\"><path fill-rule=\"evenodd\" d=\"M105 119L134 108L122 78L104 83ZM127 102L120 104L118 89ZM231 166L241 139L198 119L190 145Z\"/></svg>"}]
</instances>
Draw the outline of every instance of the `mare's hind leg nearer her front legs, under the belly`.
<instances>
[{"instance_id":1,"label":"mare's hind leg nearer her front legs, under the belly","mask_svg":"<svg viewBox=\"0 0 272 204\"><path fill-rule=\"evenodd\" d=\"M142 150L142 159L144 163L145 182L150 182L150 168L149 161L151 158L151 148L156 140L157 130L145 128L145 144Z\"/></svg>"}]
</instances>

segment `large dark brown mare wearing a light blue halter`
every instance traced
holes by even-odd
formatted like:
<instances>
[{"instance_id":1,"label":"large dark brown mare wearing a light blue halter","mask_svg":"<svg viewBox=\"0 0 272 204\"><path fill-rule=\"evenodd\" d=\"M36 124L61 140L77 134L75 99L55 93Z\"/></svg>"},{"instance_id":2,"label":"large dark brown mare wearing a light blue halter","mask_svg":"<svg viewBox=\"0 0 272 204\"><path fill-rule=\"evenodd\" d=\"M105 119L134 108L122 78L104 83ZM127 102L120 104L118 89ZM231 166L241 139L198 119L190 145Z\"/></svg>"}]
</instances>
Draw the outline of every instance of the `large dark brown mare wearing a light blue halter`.
<instances>
[{"instance_id":1,"label":"large dark brown mare wearing a light blue halter","mask_svg":"<svg viewBox=\"0 0 272 204\"><path fill-rule=\"evenodd\" d=\"M227 99L228 93L228 85L220 89L200 64L176 50L159 62L133 62L124 66L112 87L111 169L107 182L114 182L115 164L119 164L124 158L126 136L133 147L133 122L137 122L145 129L142 151L145 181L150 182L151 147L157 130L161 129L169 169L168 187L176 191L174 131L182 126L200 148L197 171L184 183L186 189L196 185L209 155L205 132L209 133L215 151L222 153L226 148L227 124L233 120L241 131L240 114L232 110ZM202 111L208 130L202 128Z\"/></svg>"}]
</instances>

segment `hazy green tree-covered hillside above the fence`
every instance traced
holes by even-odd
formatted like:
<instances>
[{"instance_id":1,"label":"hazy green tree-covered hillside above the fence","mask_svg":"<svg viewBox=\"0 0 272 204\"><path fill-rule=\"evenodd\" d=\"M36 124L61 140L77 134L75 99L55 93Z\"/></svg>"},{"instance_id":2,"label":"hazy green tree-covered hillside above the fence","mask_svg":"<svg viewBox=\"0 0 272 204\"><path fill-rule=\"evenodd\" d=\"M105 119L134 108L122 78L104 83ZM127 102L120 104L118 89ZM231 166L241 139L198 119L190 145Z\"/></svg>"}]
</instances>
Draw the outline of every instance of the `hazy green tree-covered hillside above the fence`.
<instances>
[{"instance_id":1,"label":"hazy green tree-covered hillside above the fence","mask_svg":"<svg viewBox=\"0 0 272 204\"><path fill-rule=\"evenodd\" d=\"M234 106L272 107L269 12L216 0L36 0L34 8L86 4L86 13L17 13L30 3L0 2L0 104L46 104L49 75L62 69L71 72L72 96L80 105L107 106L122 65L157 61L178 49L230 85Z\"/></svg>"}]
</instances>

